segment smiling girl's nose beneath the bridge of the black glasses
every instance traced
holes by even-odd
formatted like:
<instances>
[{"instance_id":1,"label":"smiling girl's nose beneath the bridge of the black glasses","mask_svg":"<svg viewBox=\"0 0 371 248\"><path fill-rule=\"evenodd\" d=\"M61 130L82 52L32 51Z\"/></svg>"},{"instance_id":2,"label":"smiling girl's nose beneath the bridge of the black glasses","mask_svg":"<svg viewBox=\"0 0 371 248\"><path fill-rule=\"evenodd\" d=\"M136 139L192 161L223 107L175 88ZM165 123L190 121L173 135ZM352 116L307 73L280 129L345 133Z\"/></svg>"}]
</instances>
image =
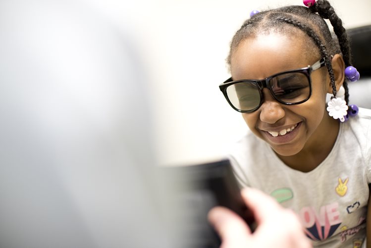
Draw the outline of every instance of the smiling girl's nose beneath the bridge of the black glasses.
<instances>
[{"instance_id":1,"label":"smiling girl's nose beneath the bridge of the black glasses","mask_svg":"<svg viewBox=\"0 0 371 248\"><path fill-rule=\"evenodd\" d=\"M274 124L285 116L285 110L277 102L268 89L263 89L264 102L260 107L260 120L265 123Z\"/></svg>"}]
</instances>

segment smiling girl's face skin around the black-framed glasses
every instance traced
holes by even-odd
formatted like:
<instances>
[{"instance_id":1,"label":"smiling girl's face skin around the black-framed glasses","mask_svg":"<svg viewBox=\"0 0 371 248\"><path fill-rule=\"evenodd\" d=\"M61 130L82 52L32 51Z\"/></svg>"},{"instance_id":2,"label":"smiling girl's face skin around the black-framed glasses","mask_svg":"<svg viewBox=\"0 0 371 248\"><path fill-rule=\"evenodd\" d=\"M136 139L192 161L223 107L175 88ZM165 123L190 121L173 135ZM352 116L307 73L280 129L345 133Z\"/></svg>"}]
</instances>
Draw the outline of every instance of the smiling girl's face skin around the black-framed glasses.
<instances>
[{"instance_id":1,"label":"smiling girl's face skin around the black-framed glasses","mask_svg":"<svg viewBox=\"0 0 371 248\"><path fill-rule=\"evenodd\" d=\"M231 58L233 80L264 79L317 62L318 55L305 53L303 40L304 35L293 38L270 33L242 41ZM312 72L312 95L306 102L291 106L281 104L265 88L262 106L253 113L242 114L252 132L279 155L291 156L305 147L320 145L331 127L332 121L325 110L329 79L323 70L325 67Z\"/></svg>"}]
</instances>

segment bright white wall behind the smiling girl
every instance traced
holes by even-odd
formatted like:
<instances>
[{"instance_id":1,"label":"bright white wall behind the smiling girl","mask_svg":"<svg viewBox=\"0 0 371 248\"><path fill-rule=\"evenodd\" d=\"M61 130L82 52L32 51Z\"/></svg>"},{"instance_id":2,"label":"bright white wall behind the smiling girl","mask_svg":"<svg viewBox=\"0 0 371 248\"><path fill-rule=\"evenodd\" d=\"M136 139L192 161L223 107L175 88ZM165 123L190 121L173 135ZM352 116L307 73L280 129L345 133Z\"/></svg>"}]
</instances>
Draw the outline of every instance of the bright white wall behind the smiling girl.
<instances>
[{"instance_id":1,"label":"bright white wall behind the smiling girl","mask_svg":"<svg viewBox=\"0 0 371 248\"><path fill-rule=\"evenodd\" d=\"M229 42L253 9L301 0L85 0L133 38L149 77L159 163L205 162L247 131L218 89ZM330 0L346 28L371 24L370 0ZM133 105L135 107L135 105ZM140 110L138 110L140 111Z\"/></svg>"}]
</instances>

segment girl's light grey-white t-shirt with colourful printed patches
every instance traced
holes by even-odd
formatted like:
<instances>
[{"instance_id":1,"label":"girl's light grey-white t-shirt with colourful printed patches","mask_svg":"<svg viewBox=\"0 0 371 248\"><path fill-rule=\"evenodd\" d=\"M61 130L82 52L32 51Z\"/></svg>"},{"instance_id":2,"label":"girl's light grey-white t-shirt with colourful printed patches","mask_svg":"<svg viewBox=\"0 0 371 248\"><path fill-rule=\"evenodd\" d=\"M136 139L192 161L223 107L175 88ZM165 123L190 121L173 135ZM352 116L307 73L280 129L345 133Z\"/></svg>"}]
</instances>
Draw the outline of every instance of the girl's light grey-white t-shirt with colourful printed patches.
<instances>
[{"instance_id":1,"label":"girl's light grey-white t-shirt with colourful printed patches","mask_svg":"<svg viewBox=\"0 0 371 248\"><path fill-rule=\"evenodd\" d=\"M360 108L341 123L327 158L307 173L286 166L253 133L230 155L241 186L259 188L293 209L314 246L361 247L371 182L371 110Z\"/></svg>"}]
</instances>

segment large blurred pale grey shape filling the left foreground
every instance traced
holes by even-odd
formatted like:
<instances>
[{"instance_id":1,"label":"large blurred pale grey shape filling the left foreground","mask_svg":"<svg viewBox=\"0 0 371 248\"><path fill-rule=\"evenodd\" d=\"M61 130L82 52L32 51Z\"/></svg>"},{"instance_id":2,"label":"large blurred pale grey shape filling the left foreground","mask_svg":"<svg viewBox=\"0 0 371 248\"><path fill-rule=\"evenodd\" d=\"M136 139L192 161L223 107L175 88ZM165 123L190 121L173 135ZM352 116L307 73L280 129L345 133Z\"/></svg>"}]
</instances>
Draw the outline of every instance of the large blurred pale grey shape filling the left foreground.
<instances>
[{"instance_id":1,"label":"large blurred pale grey shape filling the left foreground","mask_svg":"<svg viewBox=\"0 0 371 248\"><path fill-rule=\"evenodd\" d=\"M167 247L143 74L78 1L0 2L0 247Z\"/></svg>"}]
</instances>

